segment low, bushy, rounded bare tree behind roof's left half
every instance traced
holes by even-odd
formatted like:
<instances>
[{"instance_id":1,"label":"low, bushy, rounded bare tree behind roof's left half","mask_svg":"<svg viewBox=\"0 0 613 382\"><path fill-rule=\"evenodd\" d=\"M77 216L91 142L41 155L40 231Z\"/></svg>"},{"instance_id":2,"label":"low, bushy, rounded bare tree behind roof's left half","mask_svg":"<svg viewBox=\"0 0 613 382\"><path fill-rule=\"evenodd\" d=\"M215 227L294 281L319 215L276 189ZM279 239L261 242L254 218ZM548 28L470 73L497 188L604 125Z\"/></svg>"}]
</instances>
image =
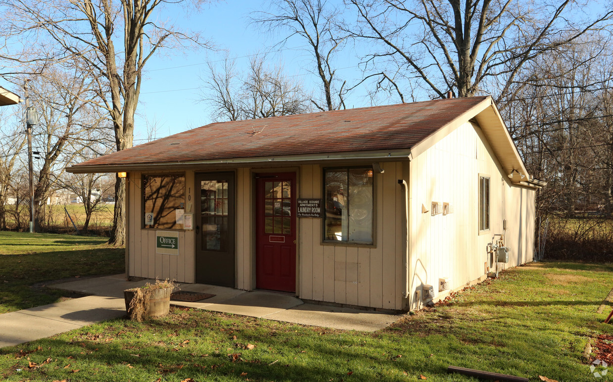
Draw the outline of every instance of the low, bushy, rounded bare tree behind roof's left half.
<instances>
[{"instance_id":1,"label":"low, bushy, rounded bare tree behind roof's left half","mask_svg":"<svg viewBox=\"0 0 613 382\"><path fill-rule=\"evenodd\" d=\"M218 71L209 64L202 101L211 105L216 120L278 117L310 111L310 96L302 83L284 74L283 66L267 67L264 55L254 55L248 72L239 74L227 56Z\"/></svg>"}]
</instances>

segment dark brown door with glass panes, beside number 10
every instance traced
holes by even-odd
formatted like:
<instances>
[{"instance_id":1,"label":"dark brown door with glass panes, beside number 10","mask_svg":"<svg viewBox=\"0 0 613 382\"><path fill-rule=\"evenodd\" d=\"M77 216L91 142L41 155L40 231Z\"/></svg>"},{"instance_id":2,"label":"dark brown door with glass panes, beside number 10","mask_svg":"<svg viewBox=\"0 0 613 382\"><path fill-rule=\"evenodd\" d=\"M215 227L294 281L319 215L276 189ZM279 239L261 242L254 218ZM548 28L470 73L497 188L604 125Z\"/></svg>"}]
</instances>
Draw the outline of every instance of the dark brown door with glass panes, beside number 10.
<instances>
[{"instance_id":1,"label":"dark brown door with glass panes, beside number 10","mask_svg":"<svg viewBox=\"0 0 613 382\"><path fill-rule=\"evenodd\" d=\"M196 282L234 288L234 174L196 174Z\"/></svg>"}]
</instances>

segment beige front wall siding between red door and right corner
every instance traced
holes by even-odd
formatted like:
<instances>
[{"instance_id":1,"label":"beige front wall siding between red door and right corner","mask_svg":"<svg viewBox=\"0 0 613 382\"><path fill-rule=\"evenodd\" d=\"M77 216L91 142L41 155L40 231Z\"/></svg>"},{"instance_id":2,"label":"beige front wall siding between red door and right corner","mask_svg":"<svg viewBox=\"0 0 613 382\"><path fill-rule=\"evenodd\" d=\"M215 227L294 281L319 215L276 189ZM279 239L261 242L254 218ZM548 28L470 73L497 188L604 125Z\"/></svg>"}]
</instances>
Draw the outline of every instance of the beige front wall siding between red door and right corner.
<instances>
[{"instance_id":1,"label":"beige front wall siding between red door and right corner","mask_svg":"<svg viewBox=\"0 0 613 382\"><path fill-rule=\"evenodd\" d=\"M397 212L403 208L398 179L403 178L408 161L381 166L385 172L373 174L374 245L322 243L322 219L299 218L299 297L362 307L406 308L402 299L402 215ZM300 167L299 197L324 199L324 167Z\"/></svg>"}]
</instances>

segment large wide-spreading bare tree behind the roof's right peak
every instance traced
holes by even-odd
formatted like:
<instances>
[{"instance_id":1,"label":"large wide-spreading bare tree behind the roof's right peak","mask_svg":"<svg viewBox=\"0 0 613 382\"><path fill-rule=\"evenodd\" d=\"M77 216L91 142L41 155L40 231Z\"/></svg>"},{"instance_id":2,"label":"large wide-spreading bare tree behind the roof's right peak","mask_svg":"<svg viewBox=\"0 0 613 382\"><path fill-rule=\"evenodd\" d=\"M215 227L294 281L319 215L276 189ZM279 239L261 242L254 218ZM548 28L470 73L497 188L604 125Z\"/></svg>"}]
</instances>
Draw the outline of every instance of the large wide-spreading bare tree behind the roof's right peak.
<instances>
[{"instance_id":1,"label":"large wide-spreading bare tree behind the roof's right peak","mask_svg":"<svg viewBox=\"0 0 613 382\"><path fill-rule=\"evenodd\" d=\"M587 32L609 33L613 15L611 9L583 13L570 0L345 1L358 17L345 30L380 47L365 56L367 71L392 64L395 75L403 68L406 80L441 98L447 91L472 96L485 86L504 98L527 63Z\"/></svg>"}]
</instances>

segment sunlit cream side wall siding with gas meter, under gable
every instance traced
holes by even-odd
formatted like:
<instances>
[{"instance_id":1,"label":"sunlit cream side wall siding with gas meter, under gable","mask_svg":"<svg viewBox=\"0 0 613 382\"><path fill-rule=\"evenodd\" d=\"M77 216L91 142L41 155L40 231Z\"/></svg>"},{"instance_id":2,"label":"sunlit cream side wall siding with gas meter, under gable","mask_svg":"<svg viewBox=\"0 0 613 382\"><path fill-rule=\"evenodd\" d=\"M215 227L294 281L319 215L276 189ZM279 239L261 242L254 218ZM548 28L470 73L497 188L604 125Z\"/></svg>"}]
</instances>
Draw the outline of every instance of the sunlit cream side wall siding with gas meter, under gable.
<instances>
[{"instance_id":1,"label":"sunlit cream side wall siding with gas meter, under gable","mask_svg":"<svg viewBox=\"0 0 613 382\"><path fill-rule=\"evenodd\" d=\"M495 266L487 252L495 234L506 234L511 248L506 267L532 260L535 191L511 183L476 124L460 124L433 141L411 161L409 282L411 297L425 284L434 286L436 300L449 292L438 291L439 278L451 278L451 290L460 289ZM481 232L480 175L490 178L490 229ZM453 212L432 216L432 202L447 202ZM419 308L419 300L411 301L411 309Z\"/></svg>"}]
</instances>

